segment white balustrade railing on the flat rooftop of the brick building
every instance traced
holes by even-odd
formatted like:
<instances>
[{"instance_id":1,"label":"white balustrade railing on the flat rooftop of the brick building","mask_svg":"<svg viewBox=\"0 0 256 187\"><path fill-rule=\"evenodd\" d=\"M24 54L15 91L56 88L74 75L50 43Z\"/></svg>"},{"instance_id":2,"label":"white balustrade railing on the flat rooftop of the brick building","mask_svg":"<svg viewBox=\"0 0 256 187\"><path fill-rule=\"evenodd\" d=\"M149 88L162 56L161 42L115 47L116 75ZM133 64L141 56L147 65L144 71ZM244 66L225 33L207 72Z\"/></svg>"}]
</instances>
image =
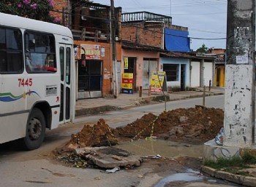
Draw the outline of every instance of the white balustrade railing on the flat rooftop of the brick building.
<instances>
[{"instance_id":1,"label":"white balustrade railing on the flat rooftop of the brick building","mask_svg":"<svg viewBox=\"0 0 256 187\"><path fill-rule=\"evenodd\" d=\"M172 24L172 17L166 15L158 15L151 12L130 12L121 15L122 23L125 22L138 22L138 21L156 21L165 24Z\"/></svg>"}]
</instances>

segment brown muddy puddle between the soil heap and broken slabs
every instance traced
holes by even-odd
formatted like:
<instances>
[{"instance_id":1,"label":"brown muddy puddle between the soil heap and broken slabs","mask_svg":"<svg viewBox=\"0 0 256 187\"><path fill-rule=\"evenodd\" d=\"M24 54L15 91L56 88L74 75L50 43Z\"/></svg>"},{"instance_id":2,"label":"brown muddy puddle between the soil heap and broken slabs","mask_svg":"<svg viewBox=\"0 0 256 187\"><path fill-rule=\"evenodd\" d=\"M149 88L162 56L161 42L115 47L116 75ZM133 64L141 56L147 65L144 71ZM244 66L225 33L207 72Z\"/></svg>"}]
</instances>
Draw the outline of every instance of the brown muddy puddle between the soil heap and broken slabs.
<instances>
[{"instance_id":1,"label":"brown muddy puddle between the soil heap and broken slabs","mask_svg":"<svg viewBox=\"0 0 256 187\"><path fill-rule=\"evenodd\" d=\"M121 143L117 148L129 151L139 156L151 156L159 154L162 157L175 158L189 156L193 158L203 157L203 145L177 143L167 140L136 140Z\"/></svg>"}]
</instances>

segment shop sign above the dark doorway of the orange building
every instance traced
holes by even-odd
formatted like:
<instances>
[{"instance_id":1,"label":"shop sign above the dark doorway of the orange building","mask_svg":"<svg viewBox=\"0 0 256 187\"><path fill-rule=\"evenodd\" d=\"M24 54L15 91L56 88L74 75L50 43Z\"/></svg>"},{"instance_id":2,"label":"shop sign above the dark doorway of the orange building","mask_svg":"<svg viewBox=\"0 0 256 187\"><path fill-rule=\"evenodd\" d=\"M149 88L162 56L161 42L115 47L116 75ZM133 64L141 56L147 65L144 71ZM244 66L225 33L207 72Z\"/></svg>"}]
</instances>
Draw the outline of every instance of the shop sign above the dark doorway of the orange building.
<instances>
[{"instance_id":1,"label":"shop sign above the dark doorway of the orange building","mask_svg":"<svg viewBox=\"0 0 256 187\"><path fill-rule=\"evenodd\" d=\"M86 51L86 60L100 60L102 54L100 45L80 44L80 47L83 47L83 49ZM83 49L80 49L80 56L84 55Z\"/></svg>"}]
</instances>

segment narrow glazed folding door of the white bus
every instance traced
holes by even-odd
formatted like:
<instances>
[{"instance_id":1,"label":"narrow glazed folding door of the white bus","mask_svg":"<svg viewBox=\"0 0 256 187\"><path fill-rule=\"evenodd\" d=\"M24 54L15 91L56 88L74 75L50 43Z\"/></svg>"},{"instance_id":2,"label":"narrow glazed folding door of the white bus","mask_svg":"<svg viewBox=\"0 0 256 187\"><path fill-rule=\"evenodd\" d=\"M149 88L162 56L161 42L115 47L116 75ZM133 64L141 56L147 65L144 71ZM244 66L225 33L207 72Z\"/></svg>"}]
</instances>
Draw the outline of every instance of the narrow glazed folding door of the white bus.
<instances>
[{"instance_id":1,"label":"narrow glazed folding door of the white bus","mask_svg":"<svg viewBox=\"0 0 256 187\"><path fill-rule=\"evenodd\" d=\"M59 57L61 68L61 108L59 122L70 122L71 117L71 60L72 45L60 44Z\"/></svg>"}]
</instances>

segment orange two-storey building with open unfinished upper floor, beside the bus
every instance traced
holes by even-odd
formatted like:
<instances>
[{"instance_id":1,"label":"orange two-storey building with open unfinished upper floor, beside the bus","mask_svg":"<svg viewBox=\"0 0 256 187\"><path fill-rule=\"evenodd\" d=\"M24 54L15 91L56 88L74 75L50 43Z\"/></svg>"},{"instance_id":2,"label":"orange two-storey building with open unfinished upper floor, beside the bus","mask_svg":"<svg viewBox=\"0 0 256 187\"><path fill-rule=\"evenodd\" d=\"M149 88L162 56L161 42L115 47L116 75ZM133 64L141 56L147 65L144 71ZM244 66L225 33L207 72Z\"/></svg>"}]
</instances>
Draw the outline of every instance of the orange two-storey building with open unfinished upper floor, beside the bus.
<instances>
[{"instance_id":1,"label":"orange two-storey building with open unfinished upper floor, beside the bus","mask_svg":"<svg viewBox=\"0 0 256 187\"><path fill-rule=\"evenodd\" d=\"M121 62L121 8L114 11L114 31L110 28L110 8L86 0L55 0L53 15L61 16L62 24L69 26L78 45L75 48L78 99L115 94L113 57L116 56L117 63ZM111 31L116 47L111 42Z\"/></svg>"}]
</instances>

